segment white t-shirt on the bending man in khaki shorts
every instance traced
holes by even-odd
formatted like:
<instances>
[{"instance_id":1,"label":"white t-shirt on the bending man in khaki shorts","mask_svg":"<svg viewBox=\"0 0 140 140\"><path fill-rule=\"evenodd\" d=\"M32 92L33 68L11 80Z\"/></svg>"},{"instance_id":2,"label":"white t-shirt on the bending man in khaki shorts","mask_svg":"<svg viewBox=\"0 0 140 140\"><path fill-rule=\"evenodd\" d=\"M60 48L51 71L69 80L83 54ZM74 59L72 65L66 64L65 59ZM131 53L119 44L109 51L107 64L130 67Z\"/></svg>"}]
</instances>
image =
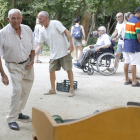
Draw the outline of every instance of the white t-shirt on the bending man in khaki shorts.
<instances>
[{"instance_id":1,"label":"white t-shirt on the bending man in khaki shorts","mask_svg":"<svg viewBox=\"0 0 140 140\"><path fill-rule=\"evenodd\" d=\"M66 28L60 21L50 20L49 26L41 28L39 33L39 43L47 43L50 47L51 59L59 59L67 55L69 42L65 33Z\"/></svg>"}]
</instances>

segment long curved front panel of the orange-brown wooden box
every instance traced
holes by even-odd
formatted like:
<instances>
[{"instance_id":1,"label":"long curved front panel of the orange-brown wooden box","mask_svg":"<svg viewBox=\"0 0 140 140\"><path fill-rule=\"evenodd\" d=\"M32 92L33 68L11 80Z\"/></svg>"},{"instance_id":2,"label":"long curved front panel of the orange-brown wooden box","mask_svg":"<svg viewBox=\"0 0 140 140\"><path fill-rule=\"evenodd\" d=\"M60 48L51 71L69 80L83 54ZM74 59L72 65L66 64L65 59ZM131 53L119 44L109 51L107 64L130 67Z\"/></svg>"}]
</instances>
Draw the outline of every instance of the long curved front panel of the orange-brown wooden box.
<instances>
[{"instance_id":1,"label":"long curved front panel of the orange-brown wooden box","mask_svg":"<svg viewBox=\"0 0 140 140\"><path fill-rule=\"evenodd\" d=\"M58 127L55 140L140 140L140 108L111 109Z\"/></svg>"}]
</instances>

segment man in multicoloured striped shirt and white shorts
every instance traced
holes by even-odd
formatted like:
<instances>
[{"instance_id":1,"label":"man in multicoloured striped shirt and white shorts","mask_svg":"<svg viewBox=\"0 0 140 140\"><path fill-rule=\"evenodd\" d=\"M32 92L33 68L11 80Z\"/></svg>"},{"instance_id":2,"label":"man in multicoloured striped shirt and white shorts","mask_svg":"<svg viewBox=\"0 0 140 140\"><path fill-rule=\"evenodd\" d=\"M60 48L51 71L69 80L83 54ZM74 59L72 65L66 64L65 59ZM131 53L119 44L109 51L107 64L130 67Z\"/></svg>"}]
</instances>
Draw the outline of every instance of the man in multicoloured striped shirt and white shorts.
<instances>
[{"instance_id":1,"label":"man in multicoloured striped shirt and white shorts","mask_svg":"<svg viewBox=\"0 0 140 140\"><path fill-rule=\"evenodd\" d=\"M140 87L136 80L136 65L140 64L140 7L136 8L135 16L130 18L126 24L124 37L124 73L125 85ZM128 66L131 63L132 81L128 77Z\"/></svg>"}]
</instances>

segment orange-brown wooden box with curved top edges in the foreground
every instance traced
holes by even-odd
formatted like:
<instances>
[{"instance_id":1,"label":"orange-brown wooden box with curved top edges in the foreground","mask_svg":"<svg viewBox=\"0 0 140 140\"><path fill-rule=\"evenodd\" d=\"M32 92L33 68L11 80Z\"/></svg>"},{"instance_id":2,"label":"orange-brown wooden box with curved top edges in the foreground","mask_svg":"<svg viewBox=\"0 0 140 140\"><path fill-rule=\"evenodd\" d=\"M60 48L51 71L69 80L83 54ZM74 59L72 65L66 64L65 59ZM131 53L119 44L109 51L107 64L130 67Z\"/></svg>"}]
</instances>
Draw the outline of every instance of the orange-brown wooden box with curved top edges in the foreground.
<instances>
[{"instance_id":1,"label":"orange-brown wooden box with curved top edges in the foreground","mask_svg":"<svg viewBox=\"0 0 140 140\"><path fill-rule=\"evenodd\" d=\"M33 140L140 140L140 107L118 107L57 124L39 108L32 109Z\"/></svg>"}]
</instances>

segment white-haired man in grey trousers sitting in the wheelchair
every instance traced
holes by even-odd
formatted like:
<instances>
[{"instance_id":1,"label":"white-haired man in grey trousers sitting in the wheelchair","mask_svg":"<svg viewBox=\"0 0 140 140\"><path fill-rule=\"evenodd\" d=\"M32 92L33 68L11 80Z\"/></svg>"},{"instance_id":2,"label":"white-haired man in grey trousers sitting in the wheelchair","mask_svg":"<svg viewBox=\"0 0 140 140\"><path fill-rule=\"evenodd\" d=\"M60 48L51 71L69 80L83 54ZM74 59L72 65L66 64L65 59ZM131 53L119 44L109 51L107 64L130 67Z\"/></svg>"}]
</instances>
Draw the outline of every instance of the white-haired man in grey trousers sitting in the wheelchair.
<instances>
[{"instance_id":1,"label":"white-haired man in grey trousers sitting in the wheelchair","mask_svg":"<svg viewBox=\"0 0 140 140\"><path fill-rule=\"evenodd\" d=\"M106 28L104 26L100 26L98 28L98 35L99 38L97 39L96 44L85 47L78 62L74 63L74 66L82 68L86 65L90 57L95 54L95 52L107 52L109 50L109 47L111 46L111 38L106 34Z\"/></svg>"}]
</instances>

